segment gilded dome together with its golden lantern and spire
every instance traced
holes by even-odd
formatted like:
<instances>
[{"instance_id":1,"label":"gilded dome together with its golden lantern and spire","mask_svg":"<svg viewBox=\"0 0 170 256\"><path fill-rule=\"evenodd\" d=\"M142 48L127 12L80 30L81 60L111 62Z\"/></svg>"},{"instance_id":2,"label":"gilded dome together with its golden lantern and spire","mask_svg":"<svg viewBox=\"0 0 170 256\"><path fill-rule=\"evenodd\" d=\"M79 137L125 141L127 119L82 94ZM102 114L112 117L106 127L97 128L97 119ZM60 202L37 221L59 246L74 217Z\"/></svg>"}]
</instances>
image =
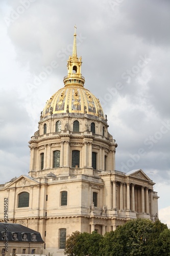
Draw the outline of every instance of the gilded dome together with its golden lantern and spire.
<instances>
[{"instance_id":1,"label":"gilded dome together with its golden lantern and spire","mask_svg":"<svg viewBox=\"0 0 170 256\"><path fill-rule=\"evenodd\" d=\"M77 57L76 26L72 56L67 61L68 74L64 77L64 88L57 91L46 102L43 119L49 115L79 113L101 117L104 114L99 99L84 88L85 79L81 75L82 57Z\"/></svg>"}]
</instances>

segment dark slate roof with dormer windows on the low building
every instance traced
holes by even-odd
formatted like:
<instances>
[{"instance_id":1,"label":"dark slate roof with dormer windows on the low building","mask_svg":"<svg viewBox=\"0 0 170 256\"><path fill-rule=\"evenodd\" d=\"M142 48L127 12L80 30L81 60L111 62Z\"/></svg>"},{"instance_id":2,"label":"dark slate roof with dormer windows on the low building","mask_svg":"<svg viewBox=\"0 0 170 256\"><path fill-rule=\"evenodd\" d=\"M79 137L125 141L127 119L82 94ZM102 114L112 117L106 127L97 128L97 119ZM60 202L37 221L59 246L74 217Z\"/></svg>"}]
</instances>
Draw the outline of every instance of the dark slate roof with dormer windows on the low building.
<instances>
[{"instance_id":1,"label":"dark slate roof with dormer windows on the low building","mask_svg":"<svg viewBox=\"0 0 170 256\"><path fill-rule=\"evenodd\" d=\"M0 241L4 241L3 234L4 232L8 232L8 241L13 242L32 242L32 243L43 243L44 241L41 238L40 232L37 232L36 230L33 230L31 228L25 227L20 224L15 223L0 223ZM17 240L13 240L13 233L17 233ZM23 241L22 234L27 234L27 241ZM31 234L36 234L36 241L32 240Z\"/></svg>"}]
</instances>

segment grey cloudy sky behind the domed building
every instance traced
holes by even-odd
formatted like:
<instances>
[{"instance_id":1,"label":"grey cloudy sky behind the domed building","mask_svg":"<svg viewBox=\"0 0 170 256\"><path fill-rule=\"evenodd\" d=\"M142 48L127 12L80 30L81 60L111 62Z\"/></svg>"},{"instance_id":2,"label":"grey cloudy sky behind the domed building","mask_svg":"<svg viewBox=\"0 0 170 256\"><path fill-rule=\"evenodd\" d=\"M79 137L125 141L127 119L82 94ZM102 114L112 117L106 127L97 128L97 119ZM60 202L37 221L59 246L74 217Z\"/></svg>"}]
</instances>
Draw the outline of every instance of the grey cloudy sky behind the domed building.
<instances>
[{"instance_id":1,"label":"grey cloudy sky behind the domed building","mask_svg":"<svg viewBox=\"0 0 170 256\"><path fill-rule=\"evenodd\" d=\"M1 183L28 174L28 141L63 87L77 26L85 88L100 99L116 169L142 169L170 227L168 0L1 1ZM52 63L56 61L56 66Z\"/></svg>"}]
</instances>

